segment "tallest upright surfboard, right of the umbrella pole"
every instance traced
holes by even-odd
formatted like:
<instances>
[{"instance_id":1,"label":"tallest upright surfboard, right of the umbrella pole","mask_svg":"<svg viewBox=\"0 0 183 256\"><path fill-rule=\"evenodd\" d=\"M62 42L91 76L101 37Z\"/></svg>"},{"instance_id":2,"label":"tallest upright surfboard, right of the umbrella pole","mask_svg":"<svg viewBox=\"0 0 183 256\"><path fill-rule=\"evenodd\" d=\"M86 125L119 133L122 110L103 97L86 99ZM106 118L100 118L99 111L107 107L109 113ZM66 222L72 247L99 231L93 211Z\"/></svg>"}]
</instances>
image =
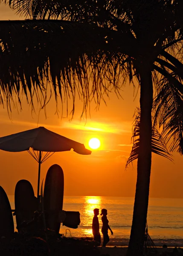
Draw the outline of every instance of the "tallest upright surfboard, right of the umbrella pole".
<instances>
[{"instance_id":1,"label":"tallest upright surfboard, right of the umbrella pole","mask_svg":"<svg viewBox=\"0 0 183 256\"><path fill-rule=\"evenodd\" d=\"M43 198L46 228L59 233L59 212L62 210L64 198L64 173L58 164L52 165L46 173Z\"/></svg>"}]
</instances>

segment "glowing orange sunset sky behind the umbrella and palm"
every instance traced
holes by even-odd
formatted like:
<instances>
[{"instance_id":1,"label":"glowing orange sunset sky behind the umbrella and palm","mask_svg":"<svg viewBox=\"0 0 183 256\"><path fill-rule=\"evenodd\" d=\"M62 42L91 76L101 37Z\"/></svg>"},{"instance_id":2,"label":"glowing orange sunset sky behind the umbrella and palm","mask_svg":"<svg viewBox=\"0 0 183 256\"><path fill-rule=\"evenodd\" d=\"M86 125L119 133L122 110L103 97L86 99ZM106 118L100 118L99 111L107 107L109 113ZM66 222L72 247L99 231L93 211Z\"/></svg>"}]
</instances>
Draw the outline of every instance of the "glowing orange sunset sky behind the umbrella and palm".
<instances>
[{"instance_id":1,"label":"glowing orange sunset sky behind the umbrella and palm","mask_svg":"<svg viewBox=\"0 0 183 256\"><path fill-rule=\"evenodd\" d=\"M20 19L8 6L0 5L0 20ZM21 18L22 19L22 18ZM136 91L137 92L137 91ZM77 100L76 113L70 122L69 117L61 119L55 115L54 99L44 111L39 108L36 113L26 102L23 111L12 111L9 119L6 108L0 106L0 137L12 133L44 126L70 139L84 143L89 148L88 141L97 137L101 141L99 150L93 150L91 155L83 156L75 152L55 153L41 166L41 180L46 171L54 163L64 170L64 195L98 195L98 196L130 196L134 197L137 178L137 162L125 170L125 163L131 151L131 128L135 107L139 105L139 94L134 98L133 86L126 84L121 93L123 99L118 99L110 93L106 98L107 107L102 102L99 111L91 106L91 118L80 122L82 102ZM65 113L65 112L64 112ZM174 163L152 156L151 197L182 198L183 157L174 154ZM14 194L18 180L29 180L37 193L38 163L27 153L10 153L0 150L0 185L6 193Z\"/></svg>"}]
</instances>

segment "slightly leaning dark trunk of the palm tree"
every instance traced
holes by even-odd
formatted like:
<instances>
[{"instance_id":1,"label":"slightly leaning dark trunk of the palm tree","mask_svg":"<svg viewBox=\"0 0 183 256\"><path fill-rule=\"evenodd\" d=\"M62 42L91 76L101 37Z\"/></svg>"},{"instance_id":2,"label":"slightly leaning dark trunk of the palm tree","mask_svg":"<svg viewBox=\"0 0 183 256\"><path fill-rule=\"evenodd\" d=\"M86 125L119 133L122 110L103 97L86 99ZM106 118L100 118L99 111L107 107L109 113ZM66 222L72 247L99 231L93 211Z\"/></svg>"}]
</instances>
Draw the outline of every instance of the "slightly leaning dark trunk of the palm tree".
<instances>
[{"instance_id":1,"label":"slightly leaning dark trunk of the palm tree","mask_svg":"<svg viewBox=\"0 0 183 256\"><path fill-rule=\"evenodd\" d=\"M137 161L137 184L134 213L127 256L142 256L145 241L145 226L148 212L148 197L151 175L151 137L153 84L151 68L138 67L140 75L140 143Z\"/></svg>"}]
</instances>

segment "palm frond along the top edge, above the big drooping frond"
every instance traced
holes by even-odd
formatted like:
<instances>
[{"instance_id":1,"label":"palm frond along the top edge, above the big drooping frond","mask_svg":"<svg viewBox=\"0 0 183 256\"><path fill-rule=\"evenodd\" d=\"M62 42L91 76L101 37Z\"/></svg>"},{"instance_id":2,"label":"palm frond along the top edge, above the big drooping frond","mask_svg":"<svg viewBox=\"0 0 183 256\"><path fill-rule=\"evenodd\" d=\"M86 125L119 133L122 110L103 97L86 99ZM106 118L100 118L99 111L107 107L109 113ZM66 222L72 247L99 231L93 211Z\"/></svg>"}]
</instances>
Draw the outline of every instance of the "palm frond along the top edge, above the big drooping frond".
<instances>
[{"instance_id":1,"label":"palm frond along the top edge, above the big drooping frond","mask_svg":"<svg viewBox=\"0 0 183 256\"><path fill-rule=\"evenodd\" d=\"M17 12L29 18L85 20L89 23L100 22L104 24L109 20L109 15L114 20L124 16L124 10L119 1L1 0L1 2L9 3L12 9L17 9Z\"/></svg>"}]
</instances>

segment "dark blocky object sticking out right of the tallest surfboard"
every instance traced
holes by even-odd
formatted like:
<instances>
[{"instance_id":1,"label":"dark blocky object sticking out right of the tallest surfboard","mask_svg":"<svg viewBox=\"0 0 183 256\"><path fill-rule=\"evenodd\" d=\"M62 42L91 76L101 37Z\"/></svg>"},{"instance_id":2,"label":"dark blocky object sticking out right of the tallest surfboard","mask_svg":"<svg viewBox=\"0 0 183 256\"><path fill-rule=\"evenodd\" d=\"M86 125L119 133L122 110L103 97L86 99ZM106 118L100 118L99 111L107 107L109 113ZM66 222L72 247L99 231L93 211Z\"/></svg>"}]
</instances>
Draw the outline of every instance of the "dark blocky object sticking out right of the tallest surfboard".
<instances>
[{"instance_id":1,"label":"dark blocky object sticking out right of the tallest surfboard","mask_svg":"<svg viewBox=\"0 0 183 256\"><path fill-rule=\"evenodd\" d=\"M64 211L66 213L66 217L63 221L63 226L70 228L78 228L80 224L80 213L74 211Z\"/></svg>"}]
</instances>

